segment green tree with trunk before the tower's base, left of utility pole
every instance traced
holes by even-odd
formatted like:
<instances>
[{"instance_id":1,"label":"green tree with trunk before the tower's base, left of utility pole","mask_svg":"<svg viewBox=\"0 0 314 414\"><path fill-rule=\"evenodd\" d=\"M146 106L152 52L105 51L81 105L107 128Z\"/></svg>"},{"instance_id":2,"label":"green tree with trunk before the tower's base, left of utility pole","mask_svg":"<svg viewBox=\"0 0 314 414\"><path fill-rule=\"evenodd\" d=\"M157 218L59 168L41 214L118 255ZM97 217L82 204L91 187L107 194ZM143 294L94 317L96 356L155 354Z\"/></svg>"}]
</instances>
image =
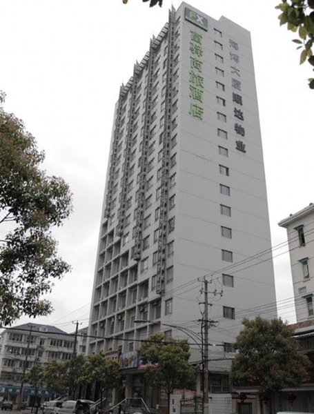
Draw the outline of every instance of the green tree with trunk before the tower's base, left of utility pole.
<instances>
[{"instance_id":1,"label":"green tree with trunk before the tower's base, left of utility pole","mask_svg":"<svg viewBox=\"0 0 314 414\"><path fill-rule=\"evenodd\" d=\"M144 364L148 364L148 380L167 394L169 412L170 395L175 388L188 388L195 384L195 369L188 362L188 341L173 338L165 341L163 333L156 333L141 344L138 352Z\"/></svg>"}]
</instances>

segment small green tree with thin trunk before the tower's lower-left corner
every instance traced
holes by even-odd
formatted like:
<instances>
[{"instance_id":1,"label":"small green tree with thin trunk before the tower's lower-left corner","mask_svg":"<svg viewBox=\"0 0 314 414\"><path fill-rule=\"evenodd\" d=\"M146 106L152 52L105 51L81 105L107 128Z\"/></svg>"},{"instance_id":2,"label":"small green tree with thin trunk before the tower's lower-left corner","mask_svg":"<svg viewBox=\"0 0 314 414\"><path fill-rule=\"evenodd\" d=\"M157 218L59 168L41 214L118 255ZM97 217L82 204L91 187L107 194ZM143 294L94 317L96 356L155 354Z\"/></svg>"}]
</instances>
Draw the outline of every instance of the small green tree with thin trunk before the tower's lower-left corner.
<instances>
[{"instance_id":1,"label":"small green tree with thin trunk before the tower's lower-left corner","mask_svg":"<svg viewBox=\"0 0 314 414\"><path fill-rule=\"evenodd\" d=\"M98 383L102 411L103 398L106 393L112 388L121 386L120 364L115 360L106 359L102 352L97 355L88 355L80 380L87 384Z\"/></svg>"}]
</instances>

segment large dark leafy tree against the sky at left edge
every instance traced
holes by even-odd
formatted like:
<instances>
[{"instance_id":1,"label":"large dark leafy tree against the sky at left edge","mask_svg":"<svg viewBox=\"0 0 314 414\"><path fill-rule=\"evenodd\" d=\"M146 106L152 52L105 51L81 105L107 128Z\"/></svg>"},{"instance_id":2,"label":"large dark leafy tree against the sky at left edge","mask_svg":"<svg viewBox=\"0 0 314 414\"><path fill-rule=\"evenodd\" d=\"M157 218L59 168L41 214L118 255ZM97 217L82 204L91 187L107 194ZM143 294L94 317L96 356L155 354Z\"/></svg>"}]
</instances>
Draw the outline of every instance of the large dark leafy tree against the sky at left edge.
<instances>
[{"instance_id":1,"label":"large dark leafy tree against the sky at left edge","mask_svg":"<svg viewBox=\"0 0 314 414\"><path fill-rule=\"evenodd\" d=\"M72 210L63 179L40 168L44 153L23 121L3 110L0 92L0 323L52 311L42 295L70 266L50 233Z\"/></svg>"}]
</instances>

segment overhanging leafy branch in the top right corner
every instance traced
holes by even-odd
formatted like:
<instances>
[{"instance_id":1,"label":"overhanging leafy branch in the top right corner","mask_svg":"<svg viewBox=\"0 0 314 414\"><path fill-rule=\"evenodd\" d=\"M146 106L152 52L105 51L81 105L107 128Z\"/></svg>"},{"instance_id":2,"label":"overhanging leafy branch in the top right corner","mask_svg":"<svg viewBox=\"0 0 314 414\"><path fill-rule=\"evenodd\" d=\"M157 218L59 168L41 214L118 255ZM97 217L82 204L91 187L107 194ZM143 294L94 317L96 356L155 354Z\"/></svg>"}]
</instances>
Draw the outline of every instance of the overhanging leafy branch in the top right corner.
<instances>
[{"instance_id":1,"label":"overhanging leafy branch in the top right corner","mask_svg":"<svg viewBox=\"0 0 314 414\"><path fill-rule=\"evenodd\" d=\"M293 39L302 49L300 55L300 64L306 60L314 66L313 41L314 41L314 0L282 0L276 6L282 13L278 19L280 26L286 24L288 30L297 32L299 39ZM313 69L314 70L314 69ZM314 89L314 78L308 79L309 86Z\"/></svg>"}]
</instances>

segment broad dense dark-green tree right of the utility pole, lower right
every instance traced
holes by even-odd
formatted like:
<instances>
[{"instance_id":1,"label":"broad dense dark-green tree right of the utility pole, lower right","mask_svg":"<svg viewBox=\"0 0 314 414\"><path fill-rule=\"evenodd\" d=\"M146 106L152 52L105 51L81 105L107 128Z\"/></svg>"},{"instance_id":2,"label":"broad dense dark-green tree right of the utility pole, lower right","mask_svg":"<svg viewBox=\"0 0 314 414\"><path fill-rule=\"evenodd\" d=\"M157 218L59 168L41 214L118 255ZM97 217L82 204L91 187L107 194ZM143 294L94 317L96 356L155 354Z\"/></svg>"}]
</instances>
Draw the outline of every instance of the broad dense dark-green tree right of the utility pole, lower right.
<instances>
[{"instance_id":1,"label":"broad dense dark-green tree right of the utility pole, lower right","mask_svg":"<svg viewBox=\"0 0 314 414\"><path fill-rule=\"evenodd\" d=\"M263 393L297 386L306 379L308 358L297 351L293 329L282 319L244 319L230 377L235 384L255 386Z\"/></svg>"}]
</instances>

